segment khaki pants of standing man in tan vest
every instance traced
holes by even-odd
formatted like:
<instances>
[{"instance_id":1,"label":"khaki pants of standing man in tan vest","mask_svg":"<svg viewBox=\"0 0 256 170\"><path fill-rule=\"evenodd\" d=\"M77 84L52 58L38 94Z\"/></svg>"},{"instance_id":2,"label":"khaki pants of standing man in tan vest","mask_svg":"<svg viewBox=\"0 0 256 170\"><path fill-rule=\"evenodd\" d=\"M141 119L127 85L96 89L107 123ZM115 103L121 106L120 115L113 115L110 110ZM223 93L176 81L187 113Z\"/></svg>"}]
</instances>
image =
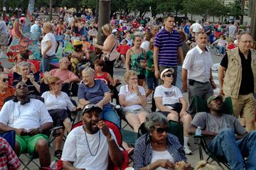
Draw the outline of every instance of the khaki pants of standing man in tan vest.
<instances>
[{"instance_id":1,"label":"khaki pants of standing man in tan vest","mask_svg":"<svg viewBox=\"0 0 256 170\"><path fill-rule=\"evenodd\" d=\"M255 119L255 97L253 94L240 94L238 98L231 97L235 118L239 115L245 120Z\"/></svg>"}]
</instances>

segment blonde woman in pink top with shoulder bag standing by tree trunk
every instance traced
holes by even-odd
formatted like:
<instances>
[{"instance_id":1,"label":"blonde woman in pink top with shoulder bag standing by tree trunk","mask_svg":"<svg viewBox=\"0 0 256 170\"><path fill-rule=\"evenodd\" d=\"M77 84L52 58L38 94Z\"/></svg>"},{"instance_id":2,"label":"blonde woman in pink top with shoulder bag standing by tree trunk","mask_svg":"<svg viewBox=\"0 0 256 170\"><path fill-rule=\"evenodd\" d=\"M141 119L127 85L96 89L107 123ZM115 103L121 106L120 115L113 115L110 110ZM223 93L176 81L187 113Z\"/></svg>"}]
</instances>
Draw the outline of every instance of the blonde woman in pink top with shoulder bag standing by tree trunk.
<instances>
[{"instance_id":1,"label":"blonde woman in pink top with shoulder bag standing by tree trunk","mask_svg":"<svg viewBox=\"0 0 256 170\"><path fill-rule=\"evenodd\" d=\"M94 44L94 47L99 48L105 55L104 61L106 64L106 71L113 77L114 61L117 58L117 38L112 34L112 26L109 23L102 26L103 33L107 38L103 45Z\"/></svg>"}]
</instances>

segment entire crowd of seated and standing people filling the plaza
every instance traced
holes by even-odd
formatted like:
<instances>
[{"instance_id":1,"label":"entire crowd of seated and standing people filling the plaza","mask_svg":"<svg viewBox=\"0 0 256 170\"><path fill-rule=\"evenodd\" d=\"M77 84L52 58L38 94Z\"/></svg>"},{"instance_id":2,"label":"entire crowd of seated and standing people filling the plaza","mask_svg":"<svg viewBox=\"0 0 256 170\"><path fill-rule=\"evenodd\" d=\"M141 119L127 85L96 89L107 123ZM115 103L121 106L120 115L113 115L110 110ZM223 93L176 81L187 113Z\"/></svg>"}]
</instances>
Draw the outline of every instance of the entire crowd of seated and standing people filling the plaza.
<instances>
[{"instance_id":1,"label":"entire crowd of seated and standing people filling the plaza","mask_svg":"<svg viewBox=\"0 0 256 170\"><path fill-rule=\"evenodd\" d=\"M15 17L0 18L1 58L5 57L7 34L14 35ZM102 45L97 44L99 29L107 36ZM110 161L123 166L122 149L103 121L122 128L110 104L115 98L134 132L142 124L148 130L134 147L122 143L125 151L134 153L134 169L175 169L182 161L183 169L190 169L188 140L198 127L207 136L210 151L225 156L231 169L243 169L243 157L247 157L247 169L256 169L255 41L249 32L239 33L234 22L223 29L219 22L180 24L172 14L162 19L117 16L98 28L90 14L78 18L65 13L50 22L34 18L32 32L41 33L40 66L36 67L36 58L26 50L13 68L0 73L0 131L16 132L13 149L17 156L38 154L41 166L50 166L48 136L43 132L63 126L54 155L63 161L64 169L107 169ZM57 36L63 36L63 43L56 41ZM216 84L210 48L214 46L218 56L223 56L218 96L213 95ZM65 52L58 68L50 69L59 48ZM121 81L114 79L117 67L126 71L126 84L119 92ZM188 101L182 92L188 92ZM31 95L41 96L44 103ZM9 96L14 98L4 101ZM69 96L78 96L78 102ZM197 113L196 96L207 101L208 113ZM221 112L224 96L232 100L233 115ZM152 104L151 111L147 104ZM70 112L79 109L83 125L72 130ZM169 120L183 125L183 146L169 134ZM65 130L68 136L62 149ZM13 159L15 165L10 166L18 169L20 163Z\"/></svg>"}]
</instances>

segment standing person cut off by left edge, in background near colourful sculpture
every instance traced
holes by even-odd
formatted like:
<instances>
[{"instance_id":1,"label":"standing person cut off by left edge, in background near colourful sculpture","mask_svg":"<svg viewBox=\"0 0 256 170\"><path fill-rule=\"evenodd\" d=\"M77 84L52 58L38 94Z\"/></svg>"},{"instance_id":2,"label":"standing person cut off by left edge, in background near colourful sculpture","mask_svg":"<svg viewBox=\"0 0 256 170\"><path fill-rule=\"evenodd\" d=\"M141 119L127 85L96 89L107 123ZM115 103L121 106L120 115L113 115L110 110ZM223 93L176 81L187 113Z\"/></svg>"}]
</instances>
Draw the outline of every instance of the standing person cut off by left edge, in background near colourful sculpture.
<instances>
[{"instance_id":1,"label":"standing person cut off by left edge, in background near colourful sculpture","mask_svg":"<svg viewBox=\"0 0 256 170\"><path fill-rule=\"evenodd\" d=\"M6 58L6 54L4 50L6 47L7 39L8 39L8 34L7 34L6 23L3 21L3 18L0 17L0 45L1 45L0 59Z\"/></svg>"}]
</instances>

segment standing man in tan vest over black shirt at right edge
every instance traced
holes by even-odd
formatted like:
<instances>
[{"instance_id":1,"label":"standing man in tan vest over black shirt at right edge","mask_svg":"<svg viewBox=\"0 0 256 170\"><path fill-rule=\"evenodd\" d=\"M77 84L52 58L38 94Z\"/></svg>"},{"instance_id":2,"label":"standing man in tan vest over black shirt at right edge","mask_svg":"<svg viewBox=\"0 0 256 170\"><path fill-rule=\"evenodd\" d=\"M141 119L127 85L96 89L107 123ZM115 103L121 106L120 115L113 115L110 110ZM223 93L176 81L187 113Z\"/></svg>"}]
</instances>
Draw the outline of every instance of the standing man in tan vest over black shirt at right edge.
<instances>
[{"instance_id":1,"label":"standing man in tan vest over black shirt at right edge","mask_svg":"<svg viewBox=\"0 0 256 170\"><path fill-rule=\"evenodd\" d=\"M238 47L227 52L218 69L220 94L231 97L234 115L245 118L247 132L255 130L256 51L251 49L252 42L250 33L241 33Z\"/></svg>"}]
</instances>

